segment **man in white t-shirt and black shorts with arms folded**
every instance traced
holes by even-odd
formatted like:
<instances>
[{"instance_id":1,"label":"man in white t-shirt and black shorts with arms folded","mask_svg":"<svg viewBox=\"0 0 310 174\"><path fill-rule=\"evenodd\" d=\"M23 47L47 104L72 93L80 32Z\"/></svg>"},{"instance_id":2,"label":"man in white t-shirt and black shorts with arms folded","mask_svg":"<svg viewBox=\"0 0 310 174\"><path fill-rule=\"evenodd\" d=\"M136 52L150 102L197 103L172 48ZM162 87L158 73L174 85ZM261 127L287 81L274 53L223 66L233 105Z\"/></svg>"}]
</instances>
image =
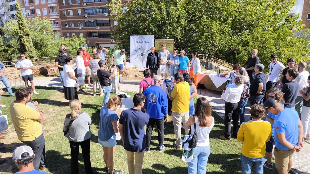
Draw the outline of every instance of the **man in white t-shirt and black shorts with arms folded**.
<instances>
[{"instance_id":1,"label":"man in white t-shirt and black shorts with arms folded","mask_svg":"<svg viewBox=\"0 0 310 174\"><path fill-rule=\"evenodd\" d=\"M20 53L20 60L16 64L17 70L21 70L21 77L23 81L25 82L25 86L29 87L28 85L28 80L30 81L31 88L33 90L33 94L39 94L36 92L34 89L34 83L33 83L33 74L32 74L32 69L33 69L33 64L31 60L26 59L25 53Z\"/></svg>"}]
</instances>

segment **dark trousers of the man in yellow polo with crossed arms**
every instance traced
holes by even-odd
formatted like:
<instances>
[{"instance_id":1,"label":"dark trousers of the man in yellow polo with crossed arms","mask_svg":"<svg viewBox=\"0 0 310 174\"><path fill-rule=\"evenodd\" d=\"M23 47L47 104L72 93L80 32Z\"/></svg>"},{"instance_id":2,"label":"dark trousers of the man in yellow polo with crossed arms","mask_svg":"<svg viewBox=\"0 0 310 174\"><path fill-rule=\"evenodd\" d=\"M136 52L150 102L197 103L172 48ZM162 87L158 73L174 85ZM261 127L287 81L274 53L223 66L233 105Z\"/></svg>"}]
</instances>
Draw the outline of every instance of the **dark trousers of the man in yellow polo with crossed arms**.
<instances>
[{"instance_id":1,"label":"dark trousers of the man in yellow polo with crossed arms","mask_svg":"<svg viewBox=\"0 0 310 174\"><path fill-rule=\"evenodd\" d=\"M27 146L31 147L34 153L33 167L39 170L39 167L45 166L45 138L43 134L35 138L33 141L23 141Z\"/></svg>"}]
</instances>

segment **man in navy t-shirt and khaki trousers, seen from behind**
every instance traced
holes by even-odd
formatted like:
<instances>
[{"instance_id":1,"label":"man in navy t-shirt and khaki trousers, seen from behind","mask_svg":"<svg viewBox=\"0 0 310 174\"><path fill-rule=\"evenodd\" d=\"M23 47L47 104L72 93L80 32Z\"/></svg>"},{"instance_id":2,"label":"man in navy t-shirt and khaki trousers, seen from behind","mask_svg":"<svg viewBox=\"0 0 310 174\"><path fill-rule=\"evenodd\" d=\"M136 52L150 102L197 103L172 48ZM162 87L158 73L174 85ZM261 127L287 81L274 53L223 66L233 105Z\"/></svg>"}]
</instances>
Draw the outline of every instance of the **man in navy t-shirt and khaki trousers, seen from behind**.
<instances>
[{"instance_id":1,"label":"man in navy t-shirt and khaki trousers, seen from behind","mask_svg":"<svg viewBox=\"0 0 310 174\"><path fill-rule=\"evenodd\" d=\"M148 124L150 116L143 113L141 108L145 104L145 96L136 93L134 107L124 110L119 118L119 133L123 141L123 147L127 154L128 173L142 173L144 151L146 148L144 126ZM135 156L135 160L134 160Z\"/></svg>"}]
</instances>

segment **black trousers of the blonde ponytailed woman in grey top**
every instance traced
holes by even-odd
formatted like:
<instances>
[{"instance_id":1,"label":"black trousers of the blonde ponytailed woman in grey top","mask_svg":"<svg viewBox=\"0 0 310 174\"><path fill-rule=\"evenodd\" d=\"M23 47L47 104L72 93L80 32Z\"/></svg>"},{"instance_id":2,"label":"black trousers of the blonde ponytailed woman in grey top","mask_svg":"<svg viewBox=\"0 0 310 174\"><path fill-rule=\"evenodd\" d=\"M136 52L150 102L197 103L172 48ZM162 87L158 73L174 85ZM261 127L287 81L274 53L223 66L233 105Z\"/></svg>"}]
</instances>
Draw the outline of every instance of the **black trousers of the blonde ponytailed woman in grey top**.
<instances>
[{"instance_id":1,"label":"black trousers of the blonde ponytailed woman in grey top","mask_svg":"<svg viewBox=\"0 0 310 174\"><path fill-rule=\"evenodd\" d=\"M84 158L84 166L85 166L85 173L86 174L93 174L94 172L91 170L91 157L89 155L90 153L90 146L91 146L91 138L88 138L85 141L82 142L70 142L70 148L71 148L71 173L77 174L79 172L78 170L78 151L81 145L82 148L82 155Z\"/></svg>"}]
</instances>

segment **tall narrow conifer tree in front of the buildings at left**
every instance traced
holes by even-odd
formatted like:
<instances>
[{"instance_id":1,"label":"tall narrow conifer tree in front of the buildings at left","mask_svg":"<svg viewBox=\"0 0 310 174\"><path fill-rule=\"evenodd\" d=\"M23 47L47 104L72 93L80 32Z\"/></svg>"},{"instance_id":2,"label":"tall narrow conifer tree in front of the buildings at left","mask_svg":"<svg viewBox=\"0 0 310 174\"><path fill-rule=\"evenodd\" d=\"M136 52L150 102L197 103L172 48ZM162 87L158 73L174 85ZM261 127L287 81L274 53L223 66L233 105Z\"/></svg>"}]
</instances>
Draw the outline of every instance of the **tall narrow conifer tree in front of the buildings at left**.
<instances>
[{"instance_id":1,"label":"tall narrow conifer tree in front of the buildings at left","mask_svg":"<svg viewBox=\"0 0 310 174\"><path fill-rule=\"evenodd\" d=\"M33 47L27 21L23 16L23 12L21 11L18 2L16 2L15 6L16 6L17 23L18 23L17 36L20 45L18 51L26 53L28 58L36 58L37 52Z\"/></svg>"}]
</instances>

